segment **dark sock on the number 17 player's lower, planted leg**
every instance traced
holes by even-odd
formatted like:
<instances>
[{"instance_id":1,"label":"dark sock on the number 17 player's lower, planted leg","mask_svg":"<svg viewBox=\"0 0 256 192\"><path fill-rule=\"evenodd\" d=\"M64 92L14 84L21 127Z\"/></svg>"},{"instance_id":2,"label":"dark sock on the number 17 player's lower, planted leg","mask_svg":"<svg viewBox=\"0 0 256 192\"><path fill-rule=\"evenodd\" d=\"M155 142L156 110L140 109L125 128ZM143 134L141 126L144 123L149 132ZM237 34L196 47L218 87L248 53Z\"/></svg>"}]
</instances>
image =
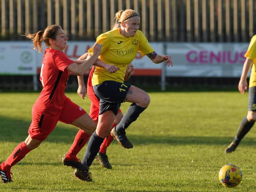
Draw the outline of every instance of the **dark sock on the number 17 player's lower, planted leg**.
<instances>
[{"instance_id":1,"label":"dark sock on the number 17 player's lower, planted leg","mask_svg":"<svg viewBox=\"0 0 256 192\"><path fill-rule=\"evenodd\" d=\"M85 164L88 167L91 166L94 158L100 150L100 145L102 144L103 140L104 138L99 137L96 132L92 134L90 140L88 141L82 164Z\"/></svg>"}]
</instances>

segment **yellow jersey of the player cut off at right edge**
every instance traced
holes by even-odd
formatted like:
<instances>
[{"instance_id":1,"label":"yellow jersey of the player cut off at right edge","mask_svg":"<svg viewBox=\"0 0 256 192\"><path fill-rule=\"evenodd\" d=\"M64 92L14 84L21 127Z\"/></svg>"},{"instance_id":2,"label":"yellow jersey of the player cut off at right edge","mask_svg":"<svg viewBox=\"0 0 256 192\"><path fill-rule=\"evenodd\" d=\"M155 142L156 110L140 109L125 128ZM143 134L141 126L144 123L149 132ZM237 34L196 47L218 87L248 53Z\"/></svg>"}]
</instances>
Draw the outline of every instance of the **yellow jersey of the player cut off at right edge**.
<instances>
[{"instance_id":1,"label":"yellow jersey of the player cut off at right edge","mask_svg":"<svg viewBox=\"0 0 256 192\"><path fill-rule=\"evenodd\" d=\"M250 58L253 61L249 87L254 87L256 86L256 35L252 37L250 44L248 46L248 50L244 56L246 58Z\"/></svg>"}]
</instances>

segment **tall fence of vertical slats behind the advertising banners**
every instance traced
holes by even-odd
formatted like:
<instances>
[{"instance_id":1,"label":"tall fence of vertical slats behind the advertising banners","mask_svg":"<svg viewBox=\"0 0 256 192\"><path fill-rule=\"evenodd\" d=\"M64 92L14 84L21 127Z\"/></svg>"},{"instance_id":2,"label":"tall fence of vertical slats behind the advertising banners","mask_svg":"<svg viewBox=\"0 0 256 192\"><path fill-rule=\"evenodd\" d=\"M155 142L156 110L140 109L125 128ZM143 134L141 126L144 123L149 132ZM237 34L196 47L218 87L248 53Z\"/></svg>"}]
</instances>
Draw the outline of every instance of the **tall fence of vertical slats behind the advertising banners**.
<instances>
[{"instance_id":1,"label":"tall fence of vertical slats behind the advertising banners","mask_svg":"<svg viewBox=\"0 0 256 192\"><path fill-rule=\"evenodd\" d=\"M256 0L0 0L0 40L24 40L51 24L69 40L95 40L118 10L141 15L149 41L248 42L256 33Z\"/></svg>"}]
</instances>

